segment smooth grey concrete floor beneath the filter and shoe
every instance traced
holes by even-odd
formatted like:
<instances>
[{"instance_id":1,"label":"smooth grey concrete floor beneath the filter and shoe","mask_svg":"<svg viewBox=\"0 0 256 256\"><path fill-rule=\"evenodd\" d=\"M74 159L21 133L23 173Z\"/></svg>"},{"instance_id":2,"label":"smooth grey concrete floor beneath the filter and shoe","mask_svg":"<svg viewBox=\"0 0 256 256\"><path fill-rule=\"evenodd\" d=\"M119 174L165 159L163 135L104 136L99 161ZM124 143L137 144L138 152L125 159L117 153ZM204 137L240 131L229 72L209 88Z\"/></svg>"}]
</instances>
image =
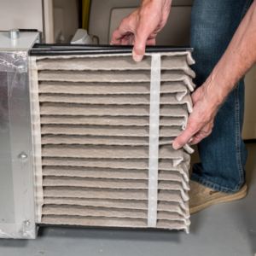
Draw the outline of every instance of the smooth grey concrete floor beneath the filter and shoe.
<instances>
[{"instance_id":1,"label":"smooth grey concrete floor beneath the filter and shoe","mask_svg":"<svg viewBox=\"0 0 256 256\"><path fill-rule=\"evenodd\" d=\"M191 216L178 231L40 228L37 240L0 240L0 255L253 256L256 253L256 143L247 143L249 193ZM193 161L198 155L193 155ZM256 254L255 254L256 255Z\"/></svg>"}]
</instances>

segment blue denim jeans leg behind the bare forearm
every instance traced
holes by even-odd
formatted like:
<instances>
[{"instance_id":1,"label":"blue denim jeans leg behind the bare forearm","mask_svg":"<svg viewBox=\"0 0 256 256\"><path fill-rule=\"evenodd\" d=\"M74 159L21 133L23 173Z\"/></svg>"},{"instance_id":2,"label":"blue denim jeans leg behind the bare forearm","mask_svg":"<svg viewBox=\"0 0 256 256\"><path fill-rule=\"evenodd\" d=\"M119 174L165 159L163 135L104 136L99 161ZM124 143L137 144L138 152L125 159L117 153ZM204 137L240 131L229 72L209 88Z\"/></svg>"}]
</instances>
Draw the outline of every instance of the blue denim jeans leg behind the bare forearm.
<instances>
[{"instance_id":1,"label":"blue denim jeans leg behind the bare forearm","mask_svg":"<svg viewBox=\"0 0 256 256\"><path fill-rule=\"evenodd\" d=\"M252 0L195 0L191 13L191 39L197 86L212 73L230 44ZM244 115L244 81L219 109L212 134L198 144L201 163L191 179L211 189L232 193L245 183L247 148L241 139Z\"/></svg>"}]
</instances>

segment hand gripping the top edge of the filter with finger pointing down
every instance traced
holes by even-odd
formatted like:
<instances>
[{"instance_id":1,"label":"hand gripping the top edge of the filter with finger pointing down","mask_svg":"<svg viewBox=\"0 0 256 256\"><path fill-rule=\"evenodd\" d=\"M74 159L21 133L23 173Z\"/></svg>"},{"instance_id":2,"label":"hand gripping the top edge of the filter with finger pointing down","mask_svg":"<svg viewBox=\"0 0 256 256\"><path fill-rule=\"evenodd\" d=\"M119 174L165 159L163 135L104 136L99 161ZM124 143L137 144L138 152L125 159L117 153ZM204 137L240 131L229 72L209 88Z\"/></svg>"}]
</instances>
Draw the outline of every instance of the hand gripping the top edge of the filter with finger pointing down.
<instances>
[{"instance_id":1,"label":"hand gripping the top edge of the filter with finger pointing down","mask_svg":"<svg viewBox=\"0 0 256 256\"><path fill-rule=\"evenodd\" d=\"M110 44L134 45L134 61L141 61L146 44L155 44L155 37L166 25L172 0L144 0L142 5L120 23Z\"/></svg>"}]
</instances>

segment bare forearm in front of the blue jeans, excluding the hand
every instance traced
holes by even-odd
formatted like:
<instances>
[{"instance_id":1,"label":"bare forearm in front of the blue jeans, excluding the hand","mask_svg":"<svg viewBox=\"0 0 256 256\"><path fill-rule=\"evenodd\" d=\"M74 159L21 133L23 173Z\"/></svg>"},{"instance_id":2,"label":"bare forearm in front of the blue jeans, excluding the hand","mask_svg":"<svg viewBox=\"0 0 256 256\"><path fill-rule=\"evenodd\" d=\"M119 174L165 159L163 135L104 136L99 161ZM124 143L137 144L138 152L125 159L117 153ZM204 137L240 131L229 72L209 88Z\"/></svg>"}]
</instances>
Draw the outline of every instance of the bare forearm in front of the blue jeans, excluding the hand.
<instances>
[{"instance_id":1,"label":"bare forearm in front of the blue jeans, excluding the hand","mask_svg":"<svg viewBox=\"0 0 256 256\"><path fill-rule=\"evenodd\" d=\"M256 62L256 2L241 21L229 47L203 84L208 102L220 105Z\"/></svg>"}]
</instances>

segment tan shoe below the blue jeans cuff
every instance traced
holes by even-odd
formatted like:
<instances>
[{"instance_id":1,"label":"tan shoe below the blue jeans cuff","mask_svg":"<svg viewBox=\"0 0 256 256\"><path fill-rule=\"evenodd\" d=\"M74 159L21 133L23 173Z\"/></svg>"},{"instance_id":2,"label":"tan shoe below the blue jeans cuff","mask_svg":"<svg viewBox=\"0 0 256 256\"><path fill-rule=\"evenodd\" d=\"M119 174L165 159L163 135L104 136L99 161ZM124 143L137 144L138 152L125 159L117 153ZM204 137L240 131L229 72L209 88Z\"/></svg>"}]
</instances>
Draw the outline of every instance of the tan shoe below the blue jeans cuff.
<instances>
[{"instance_id":1,"label":"tan shoe below the blue jeans cuff","mask_svg":"<svg viewBox=\"0 0 256 256\"><path fill-rule=\"evenodd\" d=\"M193 180L189 181L189 212L199 212L206 207L218 204L224 201L235 201L247 195L247 184L236 193L222 193L209 189Z\"/></svg>"}]
</instances>

